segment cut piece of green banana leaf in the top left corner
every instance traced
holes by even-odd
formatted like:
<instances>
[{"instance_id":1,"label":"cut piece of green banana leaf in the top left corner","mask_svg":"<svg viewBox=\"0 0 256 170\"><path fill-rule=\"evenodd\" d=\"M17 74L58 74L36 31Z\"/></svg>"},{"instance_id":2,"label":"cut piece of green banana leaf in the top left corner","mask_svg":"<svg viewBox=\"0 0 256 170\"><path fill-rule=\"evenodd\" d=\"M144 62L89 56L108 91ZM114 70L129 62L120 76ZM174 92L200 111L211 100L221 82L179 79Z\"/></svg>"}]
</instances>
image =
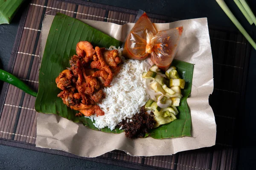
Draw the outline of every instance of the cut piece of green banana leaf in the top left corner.
<instances>
[{"instance_id":1,"label":"cut piece of green banana leaf in the top left corner","mask_svg":"<svg viewBox=\"0 0 256 170\"><path fill-rule=\"evenodd\" d=\"M0 24L9 24L23 0L0 0Z\"/></svg>"}]
</instances>

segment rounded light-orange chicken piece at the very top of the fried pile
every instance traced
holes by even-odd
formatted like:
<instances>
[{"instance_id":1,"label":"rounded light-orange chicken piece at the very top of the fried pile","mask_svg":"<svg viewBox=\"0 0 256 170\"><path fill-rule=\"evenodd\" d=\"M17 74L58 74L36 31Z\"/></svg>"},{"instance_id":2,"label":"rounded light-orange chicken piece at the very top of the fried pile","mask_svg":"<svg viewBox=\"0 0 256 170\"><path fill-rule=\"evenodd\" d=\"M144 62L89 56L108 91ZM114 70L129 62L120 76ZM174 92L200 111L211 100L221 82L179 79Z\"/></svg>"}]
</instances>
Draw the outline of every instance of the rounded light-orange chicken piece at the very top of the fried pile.
<instances>
[{"instance_id":1,"label":"rounded light-orange chicken piece at the very top of the fried pile","mask_svg":"<svg viewBox=\"0 0 256 170\"><path fill-rule=\"evenodd\" d=\"M93 59L95 50L93 49L93 45L90 42L80 41L76 45L76 54L79 57L83 57L85 62L89 62Z\"/></svg>"}]
</instances>

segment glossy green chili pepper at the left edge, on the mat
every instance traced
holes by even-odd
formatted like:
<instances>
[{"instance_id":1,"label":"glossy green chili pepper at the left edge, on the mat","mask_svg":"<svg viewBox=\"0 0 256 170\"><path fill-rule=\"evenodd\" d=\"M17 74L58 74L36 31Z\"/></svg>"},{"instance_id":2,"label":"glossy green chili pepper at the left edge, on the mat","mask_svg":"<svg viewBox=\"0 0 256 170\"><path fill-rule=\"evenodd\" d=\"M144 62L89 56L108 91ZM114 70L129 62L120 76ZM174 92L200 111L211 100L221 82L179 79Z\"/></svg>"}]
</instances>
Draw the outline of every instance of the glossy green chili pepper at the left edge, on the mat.
<instances>
[{"instance_id":1,"label":"glossy green chili pepper at the left edge, on the mat","mask_svg":"<svg viewBox=\"0 0 256 170\"><path fill-rule=\"evenodd\" d=\"M31 88L29 88L29 86L26 85L23 81L2 69L0 69L0 80L8 82L9 84L16 86L17 88L20 88L27 94L30 94L35 97L37 96L37 93L33 91Z\"/></svg>"}]
</instances>

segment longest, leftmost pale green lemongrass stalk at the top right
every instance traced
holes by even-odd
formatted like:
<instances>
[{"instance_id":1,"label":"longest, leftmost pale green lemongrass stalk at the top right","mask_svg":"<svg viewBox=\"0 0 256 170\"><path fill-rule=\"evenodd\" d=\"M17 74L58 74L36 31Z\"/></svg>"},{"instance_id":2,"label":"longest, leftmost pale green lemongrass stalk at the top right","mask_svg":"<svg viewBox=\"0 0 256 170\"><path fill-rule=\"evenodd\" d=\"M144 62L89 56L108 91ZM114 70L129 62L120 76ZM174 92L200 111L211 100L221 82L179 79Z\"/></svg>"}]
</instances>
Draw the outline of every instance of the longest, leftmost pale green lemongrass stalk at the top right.
<instances>
[{"instance_id":1,"label":"longest, leftmost pale green lemongrass stalk at the top right","mask_svg":"<svg viewBox=\"0 0 256 170\"><path fill-rule=\"evenodd\" d=\"M256 43L253 41L253 39L250 37L250 35L245 31L243 26L241 26L241 24L236 19L236 17L232 14L232 12L227 7L227 4L224 2L224 0L216 0L216 2L219 4L219 6L222 8L222 10L227 14L227 16L230 18L230 20L235 24L235 26L239 29L239 31L244 35L244 37L250 42L250 44L253 46L253 48L256 50Z\"/></svg>"}]
</instances>

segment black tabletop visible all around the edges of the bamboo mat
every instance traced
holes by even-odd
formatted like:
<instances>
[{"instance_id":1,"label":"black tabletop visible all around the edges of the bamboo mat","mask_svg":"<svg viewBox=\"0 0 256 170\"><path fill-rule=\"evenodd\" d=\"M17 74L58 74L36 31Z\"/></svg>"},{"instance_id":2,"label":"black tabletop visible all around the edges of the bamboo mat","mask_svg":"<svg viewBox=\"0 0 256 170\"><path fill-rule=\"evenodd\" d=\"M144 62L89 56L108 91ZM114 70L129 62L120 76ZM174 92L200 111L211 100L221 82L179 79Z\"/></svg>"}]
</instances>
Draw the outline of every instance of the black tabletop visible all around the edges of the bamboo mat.
<instances>
[{"instance_id":1,"label":"black tabletop visible all around the edges of the bamboo mat","mask_svg":"<svg viewBox=\"0 0 256 170\"><path fill-rule=\"evenodd\" d=\"M247 0L256 14L256 0ZM75 0L74 0L75 2ZM142 9L154 14L162 14L180 19L207 17L209 26L221 26L236 30L236 26L229 20L215 0L90 0L90 2L108 4L134 10ZM10 25L0 25L0 68L7 69L9 57L15 42L17 28L23 9L28 5L26 1L15 15ZM233 0L226 0L233 14L242 26L256 41L256 26L250 26ZM239 120L240 130L237 132L239 142L238 169L254 169L256 167L256 50L252 48L250 66L247 77L247 91L244 111ZM0 88L2 83L0 83ZM0 169L111 169L120 167L100 164L91 161L56 156L48 153L26 150L0 145ZM122 168L127 169L127 168Z\"/></svg>"}]
</instances>

